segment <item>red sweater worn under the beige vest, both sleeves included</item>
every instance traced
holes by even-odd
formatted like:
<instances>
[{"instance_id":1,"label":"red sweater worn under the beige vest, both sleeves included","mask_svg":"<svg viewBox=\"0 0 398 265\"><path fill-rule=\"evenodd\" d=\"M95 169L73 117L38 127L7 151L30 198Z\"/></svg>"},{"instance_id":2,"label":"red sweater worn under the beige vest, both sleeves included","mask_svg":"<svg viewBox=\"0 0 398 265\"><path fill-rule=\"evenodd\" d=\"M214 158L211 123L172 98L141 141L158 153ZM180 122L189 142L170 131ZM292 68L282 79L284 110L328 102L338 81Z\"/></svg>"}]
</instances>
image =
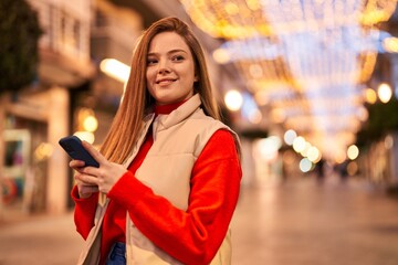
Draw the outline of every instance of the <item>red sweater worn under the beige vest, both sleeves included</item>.
<instances>
[{"instance_id":1,"label":"red sweater worn under the beige vest, both sleeves included","mask_svg":"<svg viewBox=\"0 0 398 265\"><path fill-rule=\"evenodd\" d=\"M226 236L239 197L241 178L232 135L227 130L216 131L198 157L192 169L190 203L186 213L175 209L164 198L155 195L148 187L134 177L134 172L139 168L151 144L151 134L148 134L145 144L128 168L129 171L107 194L111 202L102 226L102 263L114 242L125 241L126 211L148 239L169 255L187 264L196 263L192 259L195 246L200 244L200 242L195 242L199 237L187 236L187 233L192 233L190 226L192 220L200 229L195 232L202 233L200 237L211 235L211 239L208 239L207 251L216 253ZM86 239L94 225L97 193L88 199L78 199L77 189L74 188L72 198L76 203L74 215L76 229ZM175 247L176 241L184 242L184 251Z\"/></svg>"}]
</instances>

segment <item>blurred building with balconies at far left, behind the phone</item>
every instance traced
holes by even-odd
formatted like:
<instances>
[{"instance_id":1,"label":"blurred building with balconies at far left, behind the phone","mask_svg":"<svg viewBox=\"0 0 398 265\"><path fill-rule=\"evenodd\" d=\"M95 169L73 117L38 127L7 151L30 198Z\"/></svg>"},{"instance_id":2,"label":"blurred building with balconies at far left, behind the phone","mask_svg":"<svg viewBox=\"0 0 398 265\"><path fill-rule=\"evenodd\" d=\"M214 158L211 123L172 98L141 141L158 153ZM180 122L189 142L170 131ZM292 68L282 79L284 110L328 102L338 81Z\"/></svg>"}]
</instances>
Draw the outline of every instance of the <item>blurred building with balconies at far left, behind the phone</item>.
<instances>
[{"instance_id":1,"label":"blurred building with balconies at far left, behind the phone","mask_svg":"<svg viewBox=\"0 0 398 265\"><path fill-rule=\"evenodd\" d=\"M91 1L28 1L43 36L38 78L4 99L4 200L0 211L63 212L71 187L69 159L57 140L71 132L73 94L95 75Z\"/></svg>"}]
</instances>

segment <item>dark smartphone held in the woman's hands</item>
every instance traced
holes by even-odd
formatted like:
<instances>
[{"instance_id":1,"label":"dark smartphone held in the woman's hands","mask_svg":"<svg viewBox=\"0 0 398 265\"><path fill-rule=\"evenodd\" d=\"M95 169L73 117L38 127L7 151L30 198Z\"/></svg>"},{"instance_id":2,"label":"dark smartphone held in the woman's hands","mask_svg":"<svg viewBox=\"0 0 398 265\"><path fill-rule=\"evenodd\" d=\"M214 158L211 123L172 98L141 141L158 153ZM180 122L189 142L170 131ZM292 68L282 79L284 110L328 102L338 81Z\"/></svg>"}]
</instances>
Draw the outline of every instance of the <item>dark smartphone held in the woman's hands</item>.
<instances>
[{"instance_id":1,"label":"dark smartphone held in the woman's hands","mask_svg":"<svg viewBox=\"0 0 398 265\"><path fill-rule=\"evenodd\" d=\"M100 163L84 149L82 140L77 136L66 136L60 139L59 144L72 159L82 160L85 166L100 168Z\"/></svg>"}]
</instances>

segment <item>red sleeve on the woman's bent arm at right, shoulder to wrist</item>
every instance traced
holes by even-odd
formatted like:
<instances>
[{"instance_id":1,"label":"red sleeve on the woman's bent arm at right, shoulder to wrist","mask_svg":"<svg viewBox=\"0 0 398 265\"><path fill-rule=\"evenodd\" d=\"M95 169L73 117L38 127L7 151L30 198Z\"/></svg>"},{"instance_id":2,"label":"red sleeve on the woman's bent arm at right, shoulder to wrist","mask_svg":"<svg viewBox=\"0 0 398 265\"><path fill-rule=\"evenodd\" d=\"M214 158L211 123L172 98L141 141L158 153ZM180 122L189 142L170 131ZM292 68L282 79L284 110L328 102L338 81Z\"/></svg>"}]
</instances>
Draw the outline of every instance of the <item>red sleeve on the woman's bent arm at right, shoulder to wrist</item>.
<instances>
[{"instance_id":1,"label":"red sleeve on the woman's bent arm at right, shoulder to wrist","mask_svg":"<svg viewBox=\"0 0 398 265\"><path fill-rule=\"evenodd\" d=\"M126 205L134 224L169 255L184 264L209 264L228 231L241 177L234 139L218 130L195 163L187 211L155 195L132 172L108 197Z\"/></svg>"}]
</instances>

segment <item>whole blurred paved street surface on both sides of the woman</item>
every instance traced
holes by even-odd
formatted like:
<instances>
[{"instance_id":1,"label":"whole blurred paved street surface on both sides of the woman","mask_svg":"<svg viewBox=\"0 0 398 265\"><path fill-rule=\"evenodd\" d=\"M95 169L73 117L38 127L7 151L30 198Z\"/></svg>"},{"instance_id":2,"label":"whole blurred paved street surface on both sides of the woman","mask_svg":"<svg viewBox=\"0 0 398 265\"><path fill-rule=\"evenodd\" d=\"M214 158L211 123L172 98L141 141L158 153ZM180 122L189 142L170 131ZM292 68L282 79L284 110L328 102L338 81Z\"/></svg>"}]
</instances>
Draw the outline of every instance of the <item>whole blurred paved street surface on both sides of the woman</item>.
<instances>
[{"instance_id":1,"label":"whole blurred paved street surface on both sides of the woman","mask_svg":"<svg viewBox=\"0 0 398 265\"><path fill-rule=\"evenodd\" d=\"M237 265L397 265L398 199L360 181L245 187L232 222ZM72 214L0 224L0 265L70 265Z\"/></svg>"}]
</instances>

